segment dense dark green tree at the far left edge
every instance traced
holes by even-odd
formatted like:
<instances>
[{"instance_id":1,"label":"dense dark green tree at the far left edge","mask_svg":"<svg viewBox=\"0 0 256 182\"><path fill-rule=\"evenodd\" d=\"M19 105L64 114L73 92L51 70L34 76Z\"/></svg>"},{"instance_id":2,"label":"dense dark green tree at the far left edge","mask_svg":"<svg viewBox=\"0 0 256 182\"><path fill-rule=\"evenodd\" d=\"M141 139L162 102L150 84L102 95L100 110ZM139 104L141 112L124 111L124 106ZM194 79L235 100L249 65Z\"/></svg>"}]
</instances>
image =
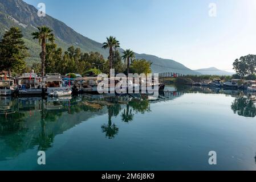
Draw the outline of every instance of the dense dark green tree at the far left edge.
<instances>
[{"instance_id":1,"label":"dense dark green tree at the far left edge","mask_svg":"<svg viewBox=\"0 0 256 182\"><path fill-rule=\"evenodd\" d=\"M24 61L27 56L25 42L22 40L22 33L17 27L10 28L3 35L0 42L0 70L21 73L26 67Z\"/></svg>"}]
</instances>

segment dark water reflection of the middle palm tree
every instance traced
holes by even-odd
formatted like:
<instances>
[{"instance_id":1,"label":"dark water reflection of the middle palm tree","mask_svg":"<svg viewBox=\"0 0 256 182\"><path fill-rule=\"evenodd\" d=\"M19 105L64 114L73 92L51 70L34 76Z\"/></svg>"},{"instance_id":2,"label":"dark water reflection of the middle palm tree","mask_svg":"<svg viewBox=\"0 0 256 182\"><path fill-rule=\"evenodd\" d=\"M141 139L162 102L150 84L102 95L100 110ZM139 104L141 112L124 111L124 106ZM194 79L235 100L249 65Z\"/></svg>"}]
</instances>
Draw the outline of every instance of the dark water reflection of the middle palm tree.
<instances>
[{"instance_id":1,"label":"dark water reflection of the middle palm tree","mask_svg":"<svg viewBox=\"0 0 256 182\"><path fill-rule=\"evenodd\" d=\"M115 104L113 106L108 106L108 124L104 124L101 126L102 132L105 133L106 137L108 137L109 139L114 138L119 131L115 123L113 123L112 125L112 121L111 121L113 116L117 116L119 114L119 111L120 111L119 108L120 108L120 105L118 104Z\"/></svg>"}]
</instances>

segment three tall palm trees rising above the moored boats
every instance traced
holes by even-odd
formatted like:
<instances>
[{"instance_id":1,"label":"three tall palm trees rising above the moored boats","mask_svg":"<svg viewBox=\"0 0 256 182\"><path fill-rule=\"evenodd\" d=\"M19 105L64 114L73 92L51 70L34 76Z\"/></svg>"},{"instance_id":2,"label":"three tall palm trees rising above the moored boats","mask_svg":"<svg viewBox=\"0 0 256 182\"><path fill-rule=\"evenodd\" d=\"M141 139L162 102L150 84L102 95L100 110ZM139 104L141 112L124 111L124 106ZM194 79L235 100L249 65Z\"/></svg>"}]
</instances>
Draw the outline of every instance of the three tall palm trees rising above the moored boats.
<instances>
[{"instance_id":1,"label":"three tall palm trees rising above the moored boats","mask_svg":"<svg viewBox=\"0 0 256 182\"><path fill-rule=\"evenodd\" d=\"M46 26L38 27L37 32L33 32L32 36L33 39L38 39L39 44L42 48L42 52L40 53L40 59L41 59L41 75L44 76L45 73L45 63L46 63L46 44L47 41L50 41L51 43L54 43L54 34L52 33L53 31ZM113 57L115 54L115 51L117 48L120 48L120 43L118 40L116 40L115 37L109 36L107 38L107 42L103 43L104 49L109 48L109 68L113 68ZM125 64L127 64L127 74L130 72L130 63L131 60L135 58L135 53L131 49L127 49L123 51L123 56L122 58L125 61Z\"/></svg>"}]
</instances>

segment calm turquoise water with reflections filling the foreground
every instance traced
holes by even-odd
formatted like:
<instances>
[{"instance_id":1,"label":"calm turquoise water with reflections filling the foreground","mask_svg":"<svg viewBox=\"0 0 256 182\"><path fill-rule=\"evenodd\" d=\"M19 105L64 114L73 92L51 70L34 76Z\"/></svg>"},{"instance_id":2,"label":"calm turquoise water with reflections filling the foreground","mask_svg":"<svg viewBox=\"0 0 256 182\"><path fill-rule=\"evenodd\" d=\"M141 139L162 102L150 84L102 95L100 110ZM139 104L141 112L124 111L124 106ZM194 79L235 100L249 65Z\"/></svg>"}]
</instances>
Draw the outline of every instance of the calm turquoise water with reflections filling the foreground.
<instances>
[{"instance_id":1,"label":"calm turquoise water with reflections filling the foreground","mask_svg":"<svg viewBox=\"0 0 256 182\"><path fill-rule=\"evenodd\" d=\"M159 98L1 97L0 169L256 169L255 96L165 90ZM38 151L46 165L38 165ZM217 165L209 165L209 151Z\"/></svg>"}]
</instances>

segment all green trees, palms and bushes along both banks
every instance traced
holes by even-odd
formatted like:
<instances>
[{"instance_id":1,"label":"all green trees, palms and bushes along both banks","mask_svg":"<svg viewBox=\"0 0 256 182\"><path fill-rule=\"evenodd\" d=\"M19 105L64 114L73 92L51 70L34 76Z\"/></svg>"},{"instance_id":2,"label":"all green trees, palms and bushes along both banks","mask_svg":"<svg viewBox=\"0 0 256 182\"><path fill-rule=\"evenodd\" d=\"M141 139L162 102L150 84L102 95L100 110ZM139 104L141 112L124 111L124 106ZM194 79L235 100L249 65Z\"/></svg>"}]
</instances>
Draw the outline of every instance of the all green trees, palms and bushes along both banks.
<instances>
[{"instance_id":1,"label":"all green trees, palms and bushes along both banks","mask_svg":"<svg viewBox=\"0 0 256 182\"><path fill-rule=\"evenodd\" d=\"M48 27L38 27L38 31L31 34L33 39L37 39L41 46L39 53L41 63L34 63L28 67L25 58L28 57L23 35L19 28L12 27L6 31L0 41L0 71L9 72L11 75L21 75L25 72L40 73L79 73L82 76L89 72L109 73L115 69L116 73L151 73L151 62L145 59L136 59L135 53L131 49L121 51L120 42L114 37L109 36L103 43L104 49L108 49L109 56L105 60L99 52L82 52L80 48L71 46L63 50L55 44L54 34ZM256 55L242 56L233 63L236 74L233 76L209 76L209 75L186 75L177 79L177 82L200 82L202 80L230 80L245 79L256 80Z\"/></svg>"}]
</instances>

